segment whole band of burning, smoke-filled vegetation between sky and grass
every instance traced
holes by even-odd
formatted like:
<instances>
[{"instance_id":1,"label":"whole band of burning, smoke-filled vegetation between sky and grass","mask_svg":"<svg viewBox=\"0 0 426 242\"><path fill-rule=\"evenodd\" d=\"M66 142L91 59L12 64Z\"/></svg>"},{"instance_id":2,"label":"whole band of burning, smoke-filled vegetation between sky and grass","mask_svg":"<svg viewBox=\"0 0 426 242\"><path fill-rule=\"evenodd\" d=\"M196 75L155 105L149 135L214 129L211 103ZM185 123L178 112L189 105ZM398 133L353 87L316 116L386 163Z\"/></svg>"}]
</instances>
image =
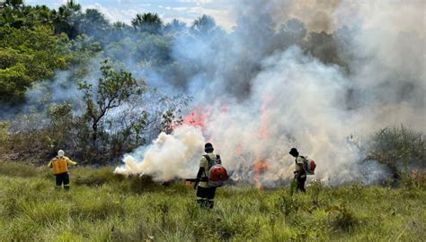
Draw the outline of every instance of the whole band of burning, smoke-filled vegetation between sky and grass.
<instances>
[{"instance_id":1,"label":"whole band of burning, smoke-filled vegetation between sky and grass","mask_svg":"<svg viewBox=\"0 0 426 242\"><path fill-rule=\"evenodd\" d=\"M211 142L232 179L259 187L293 176L294 146L332 185L424 169L422 5L235 4L226 31L207 15L129 25L74 1L7 2L0 160L40 163L63 149L163 180L187 177Z\"/></svg>"}]
</instances>

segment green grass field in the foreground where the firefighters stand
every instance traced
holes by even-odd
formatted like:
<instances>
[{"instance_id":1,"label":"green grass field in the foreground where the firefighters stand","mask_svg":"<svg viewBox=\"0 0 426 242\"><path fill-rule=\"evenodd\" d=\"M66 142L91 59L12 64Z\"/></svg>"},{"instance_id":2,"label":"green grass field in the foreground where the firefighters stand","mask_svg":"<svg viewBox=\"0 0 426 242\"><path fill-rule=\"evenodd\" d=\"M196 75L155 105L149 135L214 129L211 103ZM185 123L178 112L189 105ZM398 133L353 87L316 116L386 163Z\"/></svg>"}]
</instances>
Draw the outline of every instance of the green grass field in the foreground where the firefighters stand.
<instances>
[{"instance_id":1,"label":"green grass field in the foreground where the firefighters stand","mask_svg":"<svg viewBox=\"0 0 426 242\"><path fill-rule=\"evenodd\" d=\"M426 189L312 182L259 191L227 186L200 209L191 186L70 171L58 191L49 169L0 163L0 241L424 241Z\"/></svg>"}]
</instances>

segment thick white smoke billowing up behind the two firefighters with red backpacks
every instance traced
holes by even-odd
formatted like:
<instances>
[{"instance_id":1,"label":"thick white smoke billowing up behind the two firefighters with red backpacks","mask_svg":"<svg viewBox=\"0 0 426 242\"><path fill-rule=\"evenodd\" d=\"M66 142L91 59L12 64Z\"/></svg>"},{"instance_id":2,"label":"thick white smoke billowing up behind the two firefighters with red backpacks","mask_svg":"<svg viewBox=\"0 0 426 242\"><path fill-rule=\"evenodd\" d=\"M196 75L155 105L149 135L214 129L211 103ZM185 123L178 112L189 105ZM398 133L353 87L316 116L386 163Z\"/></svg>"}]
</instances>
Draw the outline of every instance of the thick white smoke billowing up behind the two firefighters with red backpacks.
<instances>
[{"instance_id":1,"label":"thick white smoke billowing up behind the two firefighters with red backpacks","mask_svg":"<svg viewBox=\"0 0 426 242\"><path fill-rule=\"evenodd\" d=\"M176 41L174 57L200 70L188 85L193 107L206 115L205 129L202 135L190 135L194 131L187 127L160 134L159 140L178 144L159 149L157 140L125 157L118 171L159 180L195 176L208 140L239 181L253 181L256 159L268 163L265 184L292 177L291 147L313 158L314 178L331 185L383 176L386 169L379 164L362 162L365 154L352 134L362 137L400 124L426 130L424 3L302 2L245 1L229 37L212 37L209 44ZM324 11L308 14L312 6L303 6L309 4ZM308 30L331 32L347 25L341 40L348 48L342 55L351 55L349 73L280 43L276 30L291 17L306 22ZM188 142L190 136L197 140Z\"/></svg>"}]
</instances>

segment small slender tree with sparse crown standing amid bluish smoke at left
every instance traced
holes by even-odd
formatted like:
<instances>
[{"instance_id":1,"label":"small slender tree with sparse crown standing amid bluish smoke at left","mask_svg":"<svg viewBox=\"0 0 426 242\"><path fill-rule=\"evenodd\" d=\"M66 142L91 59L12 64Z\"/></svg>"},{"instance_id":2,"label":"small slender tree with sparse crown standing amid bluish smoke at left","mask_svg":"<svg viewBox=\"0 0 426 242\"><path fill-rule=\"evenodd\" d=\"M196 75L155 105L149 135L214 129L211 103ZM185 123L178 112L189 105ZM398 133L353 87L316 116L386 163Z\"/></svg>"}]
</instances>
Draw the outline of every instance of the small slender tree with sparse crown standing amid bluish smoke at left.
<instances>
[{"instance_id":1,"label":"small slender tree with sparse crown standing amid bluish smoke at left","mask_svg":"<svg viewBox=\"0 0 426 242\"><path fill-rule=\"evenodd\" d=\"M96 91L88 82L79 83L79 89L84 91L85 116L91 120L93 148L96 148L99 125L108 111L119 108L133 96L145 91L145 82L137 82L131 73L124 70L116 72L108 60L102 61L101 73L102 78L99 79Z\"/></svg>"}]
</instances>

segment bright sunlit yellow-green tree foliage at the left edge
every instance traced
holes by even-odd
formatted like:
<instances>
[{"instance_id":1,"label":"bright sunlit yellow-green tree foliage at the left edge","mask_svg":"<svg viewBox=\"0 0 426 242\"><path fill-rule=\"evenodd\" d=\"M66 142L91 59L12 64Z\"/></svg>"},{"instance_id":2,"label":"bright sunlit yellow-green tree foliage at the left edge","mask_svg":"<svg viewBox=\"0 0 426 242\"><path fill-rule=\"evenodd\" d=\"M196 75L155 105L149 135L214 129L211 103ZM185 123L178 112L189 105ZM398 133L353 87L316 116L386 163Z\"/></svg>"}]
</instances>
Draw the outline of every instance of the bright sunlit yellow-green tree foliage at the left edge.
<instances>
[{"instance_id":1,"label":"bright sunlit yellow-green tree foliage at the left edge","mask_svg":"<svg viewBox=\"0 0 426 242\"><path fill-rule=\"evenodd\" d=\"M0 28L0 102L20 102L32 82L49 79L64 69L62 40L49 27Z\"/></svg>"}]
</instances>

